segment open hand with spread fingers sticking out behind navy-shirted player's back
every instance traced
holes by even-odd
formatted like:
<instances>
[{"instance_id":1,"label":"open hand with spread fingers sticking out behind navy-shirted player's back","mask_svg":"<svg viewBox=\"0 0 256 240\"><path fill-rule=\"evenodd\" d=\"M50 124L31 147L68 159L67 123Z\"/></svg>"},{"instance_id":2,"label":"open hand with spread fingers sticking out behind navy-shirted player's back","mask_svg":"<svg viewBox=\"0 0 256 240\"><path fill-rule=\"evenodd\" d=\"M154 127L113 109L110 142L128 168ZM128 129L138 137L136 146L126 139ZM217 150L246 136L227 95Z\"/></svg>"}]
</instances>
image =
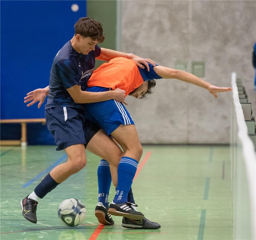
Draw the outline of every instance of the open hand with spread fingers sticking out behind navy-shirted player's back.
<instances>
[{"instance_id":1,"label":"open hand with spread fingers sticking out behind navy-shirted player's back","mask_svg":"<svg viewBox=\"0 0 256 240\"><path fill-rule=\"evenodd\" d=\"M29 104L27 104L27 107L30 107L36 102L39 102L37 107L40 108L43 102L45 101L46 96L48 95L49 95L49 86L45 88L38 88L27 93L27 97L24 98L25 100L24 103L30 102Z\"/></svg>"}]
</instances>

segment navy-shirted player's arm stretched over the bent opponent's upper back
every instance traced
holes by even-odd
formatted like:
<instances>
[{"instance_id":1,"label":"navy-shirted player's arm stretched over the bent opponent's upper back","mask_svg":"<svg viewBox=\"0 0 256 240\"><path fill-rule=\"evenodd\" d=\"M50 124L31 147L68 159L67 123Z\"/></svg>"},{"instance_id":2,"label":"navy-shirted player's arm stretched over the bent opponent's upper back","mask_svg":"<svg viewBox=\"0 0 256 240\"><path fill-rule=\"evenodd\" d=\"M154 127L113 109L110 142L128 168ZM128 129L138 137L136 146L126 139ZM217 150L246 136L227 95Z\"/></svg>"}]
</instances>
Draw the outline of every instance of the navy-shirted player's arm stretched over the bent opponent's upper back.
<instances>
[{"instance_id":1,"label":"navy-shirted player's arm stretched over the bent opponent's upper back","mask_svg":"<svg viewBox=\"0 0 256 240\"><path fill-rule=\"evenodd\" d=\"M101 48L101 55L99 55L96 59L102 60L102 61L109 61L110 59L117 58L117 57L132 59L133 61L135 61L136 65L141 68L145 68L142 65L144 64L147 67L148 71L149 71L148 63L155 66L155 62L149 58L141 58L139 56L134 55L133 53L118 52L118 51L107 49L107 48Z\"/></svg>"}]
</instances>

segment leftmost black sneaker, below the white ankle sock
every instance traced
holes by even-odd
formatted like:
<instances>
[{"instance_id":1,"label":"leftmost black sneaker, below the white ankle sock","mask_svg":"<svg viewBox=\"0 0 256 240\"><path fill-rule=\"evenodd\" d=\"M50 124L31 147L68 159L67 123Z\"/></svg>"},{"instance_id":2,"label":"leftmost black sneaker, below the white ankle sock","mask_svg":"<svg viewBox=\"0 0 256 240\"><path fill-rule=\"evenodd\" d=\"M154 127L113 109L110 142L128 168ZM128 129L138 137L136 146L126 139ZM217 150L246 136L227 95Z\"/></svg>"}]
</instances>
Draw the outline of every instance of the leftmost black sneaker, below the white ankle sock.
<instances>
[{"instance_id":1,"label":"leftmost black sneaker, below the white ankle sock","mask_svg":"<svg viewBox=\"0 0 256 240\"><path fill-rule=\"evenodd\" d=\"M28 198L28 196L26 196L23 200L20 201L20 207L22 208L22 215L31 223L37 223L36 207L38 202Z\"/></svg>"}]
</instances>

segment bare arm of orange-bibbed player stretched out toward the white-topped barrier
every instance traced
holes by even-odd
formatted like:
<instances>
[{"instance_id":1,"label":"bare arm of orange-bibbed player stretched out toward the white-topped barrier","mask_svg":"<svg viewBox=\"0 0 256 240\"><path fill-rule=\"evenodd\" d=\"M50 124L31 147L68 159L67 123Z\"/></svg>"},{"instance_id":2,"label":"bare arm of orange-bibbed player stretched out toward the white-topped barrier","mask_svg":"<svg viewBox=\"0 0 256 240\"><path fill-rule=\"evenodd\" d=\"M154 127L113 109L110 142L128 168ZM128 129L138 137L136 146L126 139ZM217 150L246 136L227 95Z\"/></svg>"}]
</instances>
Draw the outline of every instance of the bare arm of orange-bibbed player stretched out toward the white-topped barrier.
<instances>
[{"instance_id":1,"label":"bare arm of orange-bibbed player stretched out toward the white-topped barrier","mask_svg":"<svg viewBox=\"0 0 256 240\"><path fill-rule=\"evenodd\" d=\"M154 70L162 78L165 78L165 79L171 79L171 78L179 79L181 81L197 85L201 88L205 88L212 95L214 95L215 98L218 97L217 93L219 93L219 92L227 92L227 91L232 90L232 88L221 88L221 87L211 85L209 82L206 82L206 81L202 80L201 78L199 78L199 77L197 77L197 76L195 76L191 73L182 71L182 70L176 70L176 69L172 69L172 68L169 68L169 67L163 67L163 66L155 66Z\"/></svg>"}]
</instances>

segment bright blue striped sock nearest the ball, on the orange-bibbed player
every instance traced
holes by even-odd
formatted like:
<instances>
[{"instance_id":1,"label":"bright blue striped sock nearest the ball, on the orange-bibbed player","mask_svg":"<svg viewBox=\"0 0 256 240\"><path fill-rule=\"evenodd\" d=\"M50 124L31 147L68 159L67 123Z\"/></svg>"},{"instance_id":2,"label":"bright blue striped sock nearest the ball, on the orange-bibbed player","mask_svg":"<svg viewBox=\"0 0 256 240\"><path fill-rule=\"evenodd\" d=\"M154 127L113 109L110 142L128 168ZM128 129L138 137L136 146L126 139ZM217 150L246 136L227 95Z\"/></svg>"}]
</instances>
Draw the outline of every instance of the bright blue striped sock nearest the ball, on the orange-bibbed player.
<instances>
[{"instance_id":1,"label":"bright blue striped sock nearest the ball, on the orange-bibbed player","mask_svg":"<svg viewBox=\"0 0 256 240\"><path fill-rule=\"evenodd\" d=\"M98 201L102 202L105 208L108 209L108 194L109 194L112 178L111 178L109 163L105 159L102 159L100 161L97 175L98 175L98 188L99 188Z\"/></svg>"}]
</instances>

